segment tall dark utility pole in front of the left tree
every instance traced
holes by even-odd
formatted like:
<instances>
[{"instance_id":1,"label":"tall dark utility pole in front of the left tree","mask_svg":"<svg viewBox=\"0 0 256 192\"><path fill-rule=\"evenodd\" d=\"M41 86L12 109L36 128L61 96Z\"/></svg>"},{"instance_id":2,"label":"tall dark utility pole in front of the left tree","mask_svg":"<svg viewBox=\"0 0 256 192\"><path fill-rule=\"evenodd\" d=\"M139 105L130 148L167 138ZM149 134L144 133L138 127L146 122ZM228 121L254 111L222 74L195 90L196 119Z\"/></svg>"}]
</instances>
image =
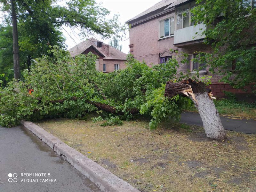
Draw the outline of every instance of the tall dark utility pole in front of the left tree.
<instances>
[{"instance_id":1,"label":"tall dark utility pole in front of the left tree","mask_svg":"<svg viewBox=\"0 0 256 192\"><path fill-rule=\"evenodd\" d=\"M14 69L14 78L18 80L20 79L20 58L19 58L17 15L15 12L15 0L11 0L11 4L12 4L13 69Z\"/></svg>"}]
</instances>

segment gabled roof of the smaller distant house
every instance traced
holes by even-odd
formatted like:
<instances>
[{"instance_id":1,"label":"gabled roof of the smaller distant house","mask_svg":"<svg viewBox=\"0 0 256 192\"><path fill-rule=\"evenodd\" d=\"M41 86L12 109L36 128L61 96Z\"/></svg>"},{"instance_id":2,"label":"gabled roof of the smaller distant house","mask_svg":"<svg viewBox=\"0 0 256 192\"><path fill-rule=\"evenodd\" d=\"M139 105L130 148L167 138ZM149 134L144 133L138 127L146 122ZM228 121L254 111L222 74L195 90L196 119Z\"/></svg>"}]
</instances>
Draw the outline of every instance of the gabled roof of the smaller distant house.
<instances>
[{"instance_id":1,"label":"gabled roof of the smaller distant house","mask_svg":"<svg viewBox=\"0 0 256 192\"><path fill-rule=\"evenodd\" d=\"M107 53L105 51L103 51L102 47L97 47L97 42L99 40L95 39L95 38L90 38L88 40L85 40L79 44L77 44L76 46L72 47L71 49L69 49L68 51L70 52L70 55L72 57L75 57L81 53L83 53L86 49L88 49L89 47L93 47L94 49L96 49L96 51L100 52L100 54L102 54L104 56L104 59L109 59L109 60L126 60L126 56L127 54L109 46L109 56L107 55ZM107 44L103 43L103 46L108 46Z\"/></svg>"}]
</instances>

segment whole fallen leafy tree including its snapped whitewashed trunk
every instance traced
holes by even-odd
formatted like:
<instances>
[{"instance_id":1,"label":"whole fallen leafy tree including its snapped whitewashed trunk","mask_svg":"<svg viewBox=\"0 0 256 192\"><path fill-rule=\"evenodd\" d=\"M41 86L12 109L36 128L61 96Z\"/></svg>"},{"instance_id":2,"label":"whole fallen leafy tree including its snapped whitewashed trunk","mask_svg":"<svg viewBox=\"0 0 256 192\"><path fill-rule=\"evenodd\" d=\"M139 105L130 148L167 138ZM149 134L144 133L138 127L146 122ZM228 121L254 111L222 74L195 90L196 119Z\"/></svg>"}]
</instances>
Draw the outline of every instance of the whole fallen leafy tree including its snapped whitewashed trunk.
<instances>
[{"instance_id":1,"label":"whole fallen leafy tree including its snapped whitewashed trunk","mask_svg":"<svg viewBox=\"0 0 256 192\"><path fill-rule=\"evenodd\" d=\"M149 127L156 129L164 119L179 119L182 109L192 103L186 95L198 108L207 137L225 139L204 84L181 81L188 79L182 74L177 79L175 59L150 68L129 55L126 69L106 74L96 70L97 57L91 53L72 58L54 47L51 54L38 58L30 72L23 71L21 81L0 88L2 126L15 126L21 119L85 118L86 113L106 111L108 116L121 115L127 120L136 113L149 115ZM172 83L175 79L180 83Z\"/></svg>"}]
</instances>

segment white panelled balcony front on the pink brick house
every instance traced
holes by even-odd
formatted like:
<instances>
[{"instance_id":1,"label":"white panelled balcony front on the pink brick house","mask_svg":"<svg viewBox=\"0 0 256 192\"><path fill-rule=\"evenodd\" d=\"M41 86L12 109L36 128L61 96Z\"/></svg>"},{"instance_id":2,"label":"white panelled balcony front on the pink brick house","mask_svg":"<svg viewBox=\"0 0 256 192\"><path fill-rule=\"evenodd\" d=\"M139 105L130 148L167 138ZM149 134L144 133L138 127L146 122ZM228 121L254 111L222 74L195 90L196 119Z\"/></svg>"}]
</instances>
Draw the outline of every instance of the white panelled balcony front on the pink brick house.
<instances>
[{"instance_id":1,"label":"white panelled balcony front on the pink brick house","mask_svg":"<svg viewBox=\"0 0 256 192\"><path fill-rule=\"evenodd\" d=\"M202 29L202 30L200 30ZM195 26L186 27L174 31L175 47L185 47L191 44L198 44L204 41L205 35L202 32L206 29L204 23ZM196 34L198 32L198 34Z\"/></svg>"}]
</instances>

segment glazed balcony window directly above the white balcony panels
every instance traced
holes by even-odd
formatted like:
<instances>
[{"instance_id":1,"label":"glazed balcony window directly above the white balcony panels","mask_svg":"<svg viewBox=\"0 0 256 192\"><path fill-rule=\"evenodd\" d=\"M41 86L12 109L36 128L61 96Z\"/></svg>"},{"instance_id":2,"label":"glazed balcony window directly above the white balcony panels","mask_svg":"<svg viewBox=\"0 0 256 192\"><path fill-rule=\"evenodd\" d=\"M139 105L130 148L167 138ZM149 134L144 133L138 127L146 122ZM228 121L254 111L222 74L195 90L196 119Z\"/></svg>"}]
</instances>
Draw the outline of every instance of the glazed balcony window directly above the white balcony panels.
<instances>
[{"instance_id":1,"label":"glazed balcony window directly above the white balcony panels","mask_svg":"<svg viewBox=\"0 0 256 192\"><path fill-rule=\"evenodd\" d=\"M176 14L177 30L195 25L195 22L191 21L191 17L193 16L193 13L190 12L190 10L193 9L195 6L196 6L196 1L192 1L190 3L177 7L177 14Z\"/></svg>"}]
</instances>

